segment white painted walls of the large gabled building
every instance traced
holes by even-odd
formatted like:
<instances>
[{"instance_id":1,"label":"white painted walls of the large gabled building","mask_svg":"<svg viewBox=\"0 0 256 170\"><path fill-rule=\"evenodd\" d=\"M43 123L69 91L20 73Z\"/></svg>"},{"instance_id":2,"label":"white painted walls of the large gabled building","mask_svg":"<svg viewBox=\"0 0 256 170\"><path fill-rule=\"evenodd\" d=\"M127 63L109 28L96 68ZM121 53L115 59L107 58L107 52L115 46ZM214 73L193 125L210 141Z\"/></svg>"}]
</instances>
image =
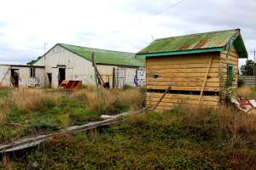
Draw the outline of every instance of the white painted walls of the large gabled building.
<instances>
[{"instance_id":1,"label":"white painted walls of the large gabled building","mask_svg":"<svg viewBox=\"0 0 256 170\"><path fill-rule=\"evenodd\" d=\"M67 49L57 45L49 53L39 59L34 65L43 65L45 62L45 74L52 73L52 88L58 88L59 66L66 66L66 79L79 80L83 84L95 84L95 74L92 64L89 60L80 57L77 54L69 52ZM116 65L97 65L98 71L102 75L104 82L113 85L113 68ZM126 68L126 84L135 86L134 77L137 74L137 68Z\"/></svg>"}]
</instances>

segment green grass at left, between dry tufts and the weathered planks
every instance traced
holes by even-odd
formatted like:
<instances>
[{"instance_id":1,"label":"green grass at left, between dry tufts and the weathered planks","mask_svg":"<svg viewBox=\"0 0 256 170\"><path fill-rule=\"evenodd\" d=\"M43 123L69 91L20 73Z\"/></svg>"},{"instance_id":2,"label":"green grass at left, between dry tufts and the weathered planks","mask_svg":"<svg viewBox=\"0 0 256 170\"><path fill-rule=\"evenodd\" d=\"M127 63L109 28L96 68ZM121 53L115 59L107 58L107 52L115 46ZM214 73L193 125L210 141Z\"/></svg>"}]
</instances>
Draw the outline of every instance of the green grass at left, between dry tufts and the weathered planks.
<instances>
[{"instance_id":1,"label":"green grass at left, between dry tufts and the weathered planks","mask_svg":"<svg viewBox=\"0 0 256 170\"><path fill-rule=\"evenodd\" d=\"M63 127L61 116L68 114L68 125L82 125L87 122L101 120L101 115L96 112L87 111L86 105L61 97L59 105L44 105L40 111L27 112L13 106L4 122L0 123L0 142L22 137L35 135L36 133L49 133ZM17 123L20 126L14 127L11 124Z\"/></svg>"}]
</instances>

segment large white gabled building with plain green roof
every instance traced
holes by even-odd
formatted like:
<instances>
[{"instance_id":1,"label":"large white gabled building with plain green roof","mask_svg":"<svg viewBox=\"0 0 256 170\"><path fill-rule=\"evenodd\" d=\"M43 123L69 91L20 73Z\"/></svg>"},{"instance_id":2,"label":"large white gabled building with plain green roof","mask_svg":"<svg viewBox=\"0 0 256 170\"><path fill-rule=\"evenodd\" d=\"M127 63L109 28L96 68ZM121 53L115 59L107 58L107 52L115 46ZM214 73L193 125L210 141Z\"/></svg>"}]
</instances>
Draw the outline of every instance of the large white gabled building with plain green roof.
<instances>
[{"instance_id":1,"label":"large white gabled building with plain green roof","mask_svg":"<svg viewBox=\"0 0 256 170\"><path fill-rule=\"evenodd\" d=\"M135 54L126 52L58 43L28 65L44 66L44 84L52 88L58 88L63 80L94 84L92 54L96 56L97 69L103 81L108 83L110 88L122 88L125 84L131 86L145 84L144 59L137 59Z\"/></svg>"}]
</instances>

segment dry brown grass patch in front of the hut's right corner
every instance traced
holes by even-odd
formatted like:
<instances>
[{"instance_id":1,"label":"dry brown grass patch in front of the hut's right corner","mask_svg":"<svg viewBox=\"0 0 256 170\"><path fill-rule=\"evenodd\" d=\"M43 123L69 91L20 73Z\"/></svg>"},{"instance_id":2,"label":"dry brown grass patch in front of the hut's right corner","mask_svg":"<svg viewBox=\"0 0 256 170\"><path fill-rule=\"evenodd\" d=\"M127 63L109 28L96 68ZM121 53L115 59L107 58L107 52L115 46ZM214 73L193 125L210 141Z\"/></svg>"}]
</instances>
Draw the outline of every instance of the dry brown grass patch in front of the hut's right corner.
<instances>
[{"instance_id":1,"label":"dry brown grass patch in front of the hut's right corner","mask_svg":"<svg viewBox=\"0 0 256 170\"><path fill-rule=\"evenodd\" d=\"M219 139L228 137L230 146L238 146L256 135L256 116L233 108L183 107L189 127L200 127L205 132L218 133Z\"/></svg>"}]
</instances>

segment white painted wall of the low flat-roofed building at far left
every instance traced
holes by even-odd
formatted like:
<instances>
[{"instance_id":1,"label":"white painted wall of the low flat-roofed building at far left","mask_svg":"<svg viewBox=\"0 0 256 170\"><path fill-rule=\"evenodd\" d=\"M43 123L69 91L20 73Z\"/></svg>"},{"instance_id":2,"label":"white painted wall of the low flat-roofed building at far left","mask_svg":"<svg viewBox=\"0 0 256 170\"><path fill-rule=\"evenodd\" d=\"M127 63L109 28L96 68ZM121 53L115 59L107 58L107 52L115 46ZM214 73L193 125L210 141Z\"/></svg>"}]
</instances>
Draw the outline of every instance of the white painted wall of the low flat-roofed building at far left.
<instances>
[{"instance_id":1,"label":"white painted wall of the low flat-roofed building at far left","mask_svg":"<svg viewBox=\"0 0 256 170\"><path fill-rule=\"evenodd\" d=\"M11 71L9 69L19 70L19 87L44 87L44 68L35 68L35 77L30 77L30 67L24 66L11 66L11 65L0 65L0 82L2 86L12 86L10 77ZM5 76L6 75L6 76ZM4 77L5 76L5 77ZM4 77L4 78L3 78Z\"/></svg>"}]
</instances>

